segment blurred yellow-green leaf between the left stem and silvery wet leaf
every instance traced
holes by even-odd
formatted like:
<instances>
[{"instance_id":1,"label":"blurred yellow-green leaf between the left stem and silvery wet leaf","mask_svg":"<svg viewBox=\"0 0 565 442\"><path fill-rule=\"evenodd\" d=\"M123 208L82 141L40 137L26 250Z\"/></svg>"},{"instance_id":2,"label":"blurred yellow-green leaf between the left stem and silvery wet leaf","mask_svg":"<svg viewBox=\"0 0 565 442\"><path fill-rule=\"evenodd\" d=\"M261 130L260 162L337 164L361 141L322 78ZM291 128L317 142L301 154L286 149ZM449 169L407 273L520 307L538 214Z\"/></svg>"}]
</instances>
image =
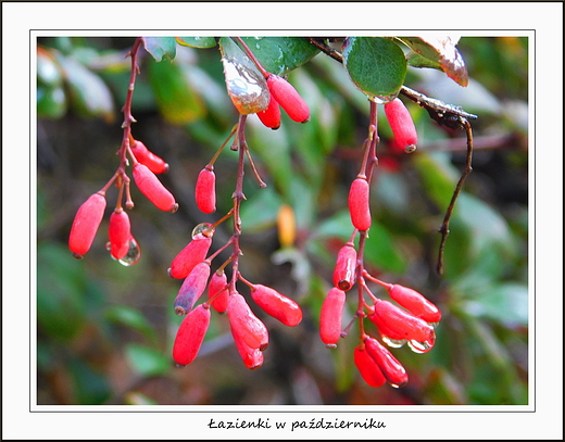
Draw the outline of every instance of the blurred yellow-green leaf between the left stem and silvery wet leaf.
<instances>
[{"instance_id":1,"label":"blurred yellow-green leaf between the left stem and silvery wet leaf","mask_svg":"<svg viewBox=\"0 0 565 442\"><path fill-rule=\"evenodd\" d=\"M149 79L158 108L173 124L190 123L202 117L206 109L198 90L190 85L186 71L190 65L179 63L149 63Z\"/></svg>"}]
</instances>

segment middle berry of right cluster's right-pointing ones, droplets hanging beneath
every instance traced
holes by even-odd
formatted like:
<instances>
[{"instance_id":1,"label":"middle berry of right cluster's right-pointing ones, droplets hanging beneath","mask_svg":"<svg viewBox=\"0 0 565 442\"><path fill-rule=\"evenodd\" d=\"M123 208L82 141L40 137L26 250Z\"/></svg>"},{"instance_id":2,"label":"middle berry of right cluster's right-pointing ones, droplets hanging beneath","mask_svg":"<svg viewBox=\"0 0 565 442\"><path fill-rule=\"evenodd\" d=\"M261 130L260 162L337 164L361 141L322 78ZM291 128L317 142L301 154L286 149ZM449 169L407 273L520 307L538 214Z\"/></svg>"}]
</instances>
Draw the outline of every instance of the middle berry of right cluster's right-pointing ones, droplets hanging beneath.
<instances>
[{"instance_id":1,"label":"middle berry of right cluster's right-pointing ones, droplets hanging beneath","mask_svg":"<svg viewBox=\"0 0 565 442\"><path fill-rule=\"evenodd\" d=\"M368 318L379 328L384 337L399 341L405 339L426 343L429 349L436 341L434 327L391 302L377 302Z\"/></svg>"}]
</instances>

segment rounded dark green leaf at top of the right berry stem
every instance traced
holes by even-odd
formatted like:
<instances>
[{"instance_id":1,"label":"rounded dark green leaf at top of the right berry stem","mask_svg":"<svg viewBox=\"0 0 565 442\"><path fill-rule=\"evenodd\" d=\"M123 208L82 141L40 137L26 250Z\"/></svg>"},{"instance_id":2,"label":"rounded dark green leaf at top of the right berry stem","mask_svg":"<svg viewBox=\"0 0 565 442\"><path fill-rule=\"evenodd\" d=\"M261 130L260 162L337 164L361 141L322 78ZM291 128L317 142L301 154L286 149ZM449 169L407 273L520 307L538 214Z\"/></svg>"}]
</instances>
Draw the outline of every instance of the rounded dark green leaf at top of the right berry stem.
<instances>
[{"instance_id":1,"label":"rounded dark green leaf at top of the right berry stem","mask_svg":"<svg viewBox=\"0 0 565 442\"><path fill-rule=\"evenodd\" d=\"M402 49L382 37L349 37L343 45L343 65L357 89L385 101L399 91L407 72Z\"/></svg>"}]
</instances>

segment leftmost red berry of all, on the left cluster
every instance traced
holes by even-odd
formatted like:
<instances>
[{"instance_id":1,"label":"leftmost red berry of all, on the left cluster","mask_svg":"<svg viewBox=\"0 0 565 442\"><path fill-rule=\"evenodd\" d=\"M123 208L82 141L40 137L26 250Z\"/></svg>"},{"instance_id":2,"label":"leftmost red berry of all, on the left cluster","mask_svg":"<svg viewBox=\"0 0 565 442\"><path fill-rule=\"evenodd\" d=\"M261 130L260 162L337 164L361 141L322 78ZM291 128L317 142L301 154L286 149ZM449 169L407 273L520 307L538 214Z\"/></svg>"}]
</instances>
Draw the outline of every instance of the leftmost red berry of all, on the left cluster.
<instances>
[{"instance_id":1,"label":"leftmost red berry of all, on the left cluster","mask_svg":"<svg viewBox=\"0 0 565 442\"><path fill-rule=\"evenodd\" d=\"M95 193L78 207L68 236L68 249L75 257L80 258L90 250L104 217L105 205L104 195Z\"/></svg>"}]
</instances>

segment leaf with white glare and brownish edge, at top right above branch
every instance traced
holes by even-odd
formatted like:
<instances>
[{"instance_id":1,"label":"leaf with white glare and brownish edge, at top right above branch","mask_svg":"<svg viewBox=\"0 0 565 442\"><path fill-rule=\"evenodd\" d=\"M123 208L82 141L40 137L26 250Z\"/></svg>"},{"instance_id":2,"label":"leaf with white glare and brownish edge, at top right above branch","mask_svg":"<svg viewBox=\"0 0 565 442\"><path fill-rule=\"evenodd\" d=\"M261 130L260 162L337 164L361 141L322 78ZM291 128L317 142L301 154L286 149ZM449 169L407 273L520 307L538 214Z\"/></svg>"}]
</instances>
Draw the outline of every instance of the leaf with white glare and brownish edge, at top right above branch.
<instances>
[{"instance_id":1,"label":"leaf with white glare and brownish edge, at top right above branch","mask_svg":"<svg viewBox=\"0 0 565 442\"><path fill-rule=\"evenodd\" d=\"M399 37L399 40L411 49L407 54L411 66L443 71L459 85L468 85L467 66L455 48L459 37Z\"/></svg>"}]
</instances>

